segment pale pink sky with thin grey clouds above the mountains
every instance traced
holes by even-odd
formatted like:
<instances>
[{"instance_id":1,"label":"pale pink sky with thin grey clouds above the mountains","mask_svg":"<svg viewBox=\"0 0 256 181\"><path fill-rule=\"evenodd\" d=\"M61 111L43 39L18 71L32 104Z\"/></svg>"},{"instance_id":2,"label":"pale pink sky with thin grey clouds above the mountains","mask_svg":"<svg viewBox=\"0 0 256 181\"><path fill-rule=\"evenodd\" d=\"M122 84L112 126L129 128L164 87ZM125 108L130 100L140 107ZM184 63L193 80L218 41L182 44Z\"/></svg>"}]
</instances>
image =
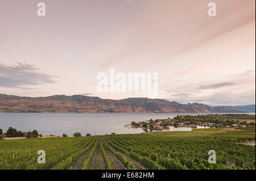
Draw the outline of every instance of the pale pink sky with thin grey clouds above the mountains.
<instances>
[{"instance_id":1,"label":"pale pink sky with thin grey clouds above the mountains","mask_svg":"<svg viewBox=\"0 0 256 181\"><path fill-rule=\"evenodd\" d=\"M110 68L159 73L159 99L255 104L255 1L0 1L0 94L147 97L98 92Z\"/></svg>"}]
</instances>

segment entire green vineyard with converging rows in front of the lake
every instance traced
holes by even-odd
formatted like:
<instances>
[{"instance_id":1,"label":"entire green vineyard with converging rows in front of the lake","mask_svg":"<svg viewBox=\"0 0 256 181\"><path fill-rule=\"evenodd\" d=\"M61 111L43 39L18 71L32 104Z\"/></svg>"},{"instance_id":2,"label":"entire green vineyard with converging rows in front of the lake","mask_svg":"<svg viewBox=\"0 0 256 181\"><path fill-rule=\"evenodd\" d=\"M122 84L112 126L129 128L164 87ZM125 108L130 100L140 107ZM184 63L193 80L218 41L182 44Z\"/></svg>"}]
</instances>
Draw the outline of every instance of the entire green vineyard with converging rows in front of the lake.
<instances>
[{"instance_id":1,"label":"entire green vineyard with converging rows in front of the lake","mask_svg":"<svg viewBox=\"0 0 256 181\"><path fill-rule=\"evenodd\" d=\"M38 150L46 163L38 163ZM208 162L209 150L216 163ZM255 127L5 140L0 169L255 169Z\"/></svg>"}]
</instances>

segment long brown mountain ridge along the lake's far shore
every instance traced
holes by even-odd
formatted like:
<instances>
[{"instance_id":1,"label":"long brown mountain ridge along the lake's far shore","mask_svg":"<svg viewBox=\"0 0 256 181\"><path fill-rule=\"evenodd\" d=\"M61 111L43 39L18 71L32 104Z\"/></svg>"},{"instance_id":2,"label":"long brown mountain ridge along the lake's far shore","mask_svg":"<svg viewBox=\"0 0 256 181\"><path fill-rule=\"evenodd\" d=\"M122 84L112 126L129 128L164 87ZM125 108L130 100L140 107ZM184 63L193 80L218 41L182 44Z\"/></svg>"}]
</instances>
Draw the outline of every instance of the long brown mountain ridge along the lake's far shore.
<instances>
[{"instance_id":1,"label":"long brown mountain ridge along the lake's far shore","mask_svg":"<svg viewBox=\"0 0 256 181\"><path fill-rule=\"evenodd\" d=\"M164 99L101 99L84 95L20 97L0 94L0 112L243 112L229 107L206 104L180 104Z\"/></svg>"}]
</instances>

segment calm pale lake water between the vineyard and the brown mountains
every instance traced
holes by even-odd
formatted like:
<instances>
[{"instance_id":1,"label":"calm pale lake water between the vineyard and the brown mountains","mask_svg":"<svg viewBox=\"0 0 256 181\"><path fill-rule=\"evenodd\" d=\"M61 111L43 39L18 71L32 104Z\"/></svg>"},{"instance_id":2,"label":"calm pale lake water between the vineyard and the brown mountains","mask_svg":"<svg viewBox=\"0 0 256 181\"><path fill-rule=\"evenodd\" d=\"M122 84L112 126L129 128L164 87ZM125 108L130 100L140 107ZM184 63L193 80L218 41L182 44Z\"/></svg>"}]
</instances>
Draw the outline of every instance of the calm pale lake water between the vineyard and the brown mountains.
<instances>
[{"instance_id":1,"label":"calm pale lake water between the vineyard and the brown mountains","mask_svg":"<svg viewBox=\"0 0 256 181\"><path fill-rule=\"evenodd\" d=\"M150 119L167 119L177 115L207 115L207 113L0 113L0 128L6 132L9 127L17 131L33 131L36 129L43 135L63 133L73 136L80 132L96 134L142 133L142 128L125 128L131 121ZM203 127L204 128L204 127ZM198 128L197 128L198 129ZM191 131L191 128L170 127L166 131Z\"/></svg>"}]
</instances>

